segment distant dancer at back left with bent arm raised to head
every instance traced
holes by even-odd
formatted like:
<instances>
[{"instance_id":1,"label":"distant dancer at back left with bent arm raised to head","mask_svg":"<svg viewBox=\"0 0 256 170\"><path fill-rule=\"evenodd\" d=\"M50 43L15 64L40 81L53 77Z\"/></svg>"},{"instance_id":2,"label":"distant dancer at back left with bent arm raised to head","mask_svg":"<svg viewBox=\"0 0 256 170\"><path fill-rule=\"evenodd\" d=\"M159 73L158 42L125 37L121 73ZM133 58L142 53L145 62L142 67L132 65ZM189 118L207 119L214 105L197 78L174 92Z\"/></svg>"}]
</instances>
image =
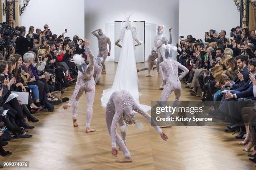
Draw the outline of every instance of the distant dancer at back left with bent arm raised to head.
<instances>
[{"instance_id":1,"label":"distant dancer at back left with bent arm raised to head","mask_svg":"<svg viewBox=\"0 0 256 170\"><path fill-rule=\"evenodd\" d=\"M98 31L98 33L96 33L96 31ZM108 38L107 36L105 36L105 34L103 34L102 29L93 30L92 34L98 38L98 46L99 46L98 57L102 58L102 66L103 66L101 74L106 74L105 60L107 56L110 56L110 50L111 50L110 38ZM108 48L107 48L107 45L108 45Z\"/></svg>"}]
</instances>

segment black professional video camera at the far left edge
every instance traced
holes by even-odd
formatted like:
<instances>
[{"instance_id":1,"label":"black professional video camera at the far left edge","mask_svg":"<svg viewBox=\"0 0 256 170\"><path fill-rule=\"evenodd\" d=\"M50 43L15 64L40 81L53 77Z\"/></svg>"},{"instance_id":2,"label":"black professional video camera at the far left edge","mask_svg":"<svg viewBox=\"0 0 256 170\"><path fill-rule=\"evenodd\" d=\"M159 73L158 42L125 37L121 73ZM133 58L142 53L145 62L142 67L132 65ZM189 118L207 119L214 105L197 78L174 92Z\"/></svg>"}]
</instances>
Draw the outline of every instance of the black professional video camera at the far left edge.
<instances>
[{"instance_id":1,"label":"black professional video camera at the far left edge","mask_svg":"<svg viewBox=\"0 0 256 170\"><path fill-rule=\"evenodd\" d=\"M0 23L0 34L2 34L2 38L0 39L0 46L3 47L13 44L13 36L21 35L20 31L11 28L6 22Z\"/></svg>"}]
</instances>

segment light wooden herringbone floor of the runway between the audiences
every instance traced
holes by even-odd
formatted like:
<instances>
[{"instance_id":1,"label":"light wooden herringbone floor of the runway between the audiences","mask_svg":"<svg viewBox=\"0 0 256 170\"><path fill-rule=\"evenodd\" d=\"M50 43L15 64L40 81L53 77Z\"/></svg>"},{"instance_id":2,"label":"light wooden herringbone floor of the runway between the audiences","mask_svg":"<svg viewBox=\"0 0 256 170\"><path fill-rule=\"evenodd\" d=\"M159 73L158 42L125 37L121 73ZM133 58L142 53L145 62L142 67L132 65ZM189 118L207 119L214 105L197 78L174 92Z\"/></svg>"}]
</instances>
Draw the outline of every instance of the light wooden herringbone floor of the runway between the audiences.
<instances>
[{"instance_id":1,"label":"light wooden herringbone floor of the runway between the audiences","mask_svg":"<svg viewBox=\"0 0 256 170\"><path fill-rule=\"evenodd\" d=\"M111 156L111 142L105 124L105 108L100 107L103 89L111 86L117 64L107 63L107 74L101 76L96 87L91 127L97 132L85 133L84 119L85 94L79 101L78 124L73 127L72 109L64 111L62 105L54 112L41 112L34 115L40 119L30 139L15 139L4 147L13 152L1 161L29 161L29 170L251 170L254 165L248 162L243 146L238 145L231 134L224 133L225 127L172 127L163 129L169 136L168 141L161 139L156 130L141 115L136 115L144 128L137 132L134 126L128 127L127 146L131 152L132 163L116 163ZM145 63L146 65L146 63ZM139 68L144 63L137 64ZM161 78L156 71L146 77L147 71L138 73L141 104L151 104L159 100L158 89ZM181 100L198 100L190 96L189 89L182 84ZM63 96L71 97L74 86L65 90ZM172 96L170 100L174 99ZM123 157L119 152L118 157ZM26 168L13 168L15 170Z\"/></svg>"}]
</instances>

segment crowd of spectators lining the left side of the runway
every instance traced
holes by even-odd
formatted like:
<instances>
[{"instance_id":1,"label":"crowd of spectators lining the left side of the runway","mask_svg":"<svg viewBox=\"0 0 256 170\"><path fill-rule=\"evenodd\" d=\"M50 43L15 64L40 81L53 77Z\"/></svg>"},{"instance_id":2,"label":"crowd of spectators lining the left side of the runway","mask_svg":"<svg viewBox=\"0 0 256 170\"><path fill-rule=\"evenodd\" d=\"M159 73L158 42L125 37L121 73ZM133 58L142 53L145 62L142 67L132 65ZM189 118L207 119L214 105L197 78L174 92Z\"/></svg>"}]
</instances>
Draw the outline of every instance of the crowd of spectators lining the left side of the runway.
<instances>
[{"instance_id":1,"label":"crowd of spectators lining the left side of the runway","mask_svg":"<svg viewBox=\"0 0 256 170\"><path fill-rule=\"evenodd\" d=\"M0 48L0 128L7 127L0 133L2 156L12 154L3 149L6 141L32 137L26 132L34 126L27 121L38 122L36 113L52 112L55 104L69 101L67 97L61 98L61 94L77 77L72 57L79 53L87 58L84 41L78 36L73 40L64 37L66 29L59 36L52 34L47 24L44 30L35 30L33 26L28 32L24 26L15 29L21 36L12 37L11 48ZM28 104L13 98L15 91L27 92Z\"/></svg>"}]
</instances>

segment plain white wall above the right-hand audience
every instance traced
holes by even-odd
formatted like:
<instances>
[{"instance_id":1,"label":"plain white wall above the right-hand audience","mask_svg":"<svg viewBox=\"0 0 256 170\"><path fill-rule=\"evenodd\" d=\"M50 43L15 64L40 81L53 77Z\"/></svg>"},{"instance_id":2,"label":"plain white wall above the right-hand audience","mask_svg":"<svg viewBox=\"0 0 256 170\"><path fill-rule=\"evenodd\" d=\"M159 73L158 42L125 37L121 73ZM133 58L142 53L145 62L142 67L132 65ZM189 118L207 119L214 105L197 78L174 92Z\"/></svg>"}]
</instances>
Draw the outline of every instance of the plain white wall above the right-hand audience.
<instances>
[{"instance_id":1,"label":"plain white wall above the right-hand audience","mask_svg":"<svg viewBox=\"0 0 256 170\"><path fill-rule=\"evenodd\" d=\"M179 36L191 34L197 39L205 39L210 29L219 33L227 32L240 25L240 13L234 0L179 0Z\"/></svg>"}]
</instances>

